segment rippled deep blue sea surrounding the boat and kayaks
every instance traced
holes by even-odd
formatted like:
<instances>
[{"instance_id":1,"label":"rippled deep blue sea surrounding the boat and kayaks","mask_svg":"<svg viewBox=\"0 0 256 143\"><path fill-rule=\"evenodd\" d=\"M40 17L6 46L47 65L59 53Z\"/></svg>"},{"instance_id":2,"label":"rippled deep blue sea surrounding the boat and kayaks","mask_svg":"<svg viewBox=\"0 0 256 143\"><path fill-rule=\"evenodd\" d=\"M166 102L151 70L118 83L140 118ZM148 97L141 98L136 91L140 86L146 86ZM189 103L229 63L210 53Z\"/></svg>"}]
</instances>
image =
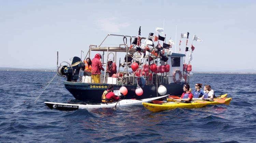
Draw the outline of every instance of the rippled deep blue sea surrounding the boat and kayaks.
<instances>
[{"instance_id":1,"label":"rippled deep blue sea surrounding the boat and kayaks","mask_svg":"<svg viewBox=\"0 0 256 143\"><path fill-rule=\"evenodd\" d=\"M228 93L230 105L151 112L125 108L49 109L75 101L56 72L0 71L0 142L256 142L256 74L193 74L194 84ZM49 86L45 89L45 87ZM40 95L40 93L45 91ZM37 97L40 95L37 101ZM35 101L35 102L34 102Z\"/></svg>"}]
</instances>

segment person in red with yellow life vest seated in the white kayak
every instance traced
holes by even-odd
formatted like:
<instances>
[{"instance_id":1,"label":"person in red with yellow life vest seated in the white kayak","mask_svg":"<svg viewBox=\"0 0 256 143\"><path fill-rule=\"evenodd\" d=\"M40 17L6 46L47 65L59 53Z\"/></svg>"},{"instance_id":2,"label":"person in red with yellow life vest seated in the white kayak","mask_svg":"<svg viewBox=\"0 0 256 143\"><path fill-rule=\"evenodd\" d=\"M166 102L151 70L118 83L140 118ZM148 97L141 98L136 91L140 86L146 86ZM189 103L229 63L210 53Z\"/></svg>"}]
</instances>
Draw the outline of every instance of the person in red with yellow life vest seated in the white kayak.
<instances>
[{"instance_id":1,"label":"person in red with yellow life vest seated in the white kayak","mask_svg":"<svg viewBox=\"0 0 256 143\"><path fill-rule=\"evenodd\" d=\"M113 89L114 89L114 86L109 84L108 89L105 90L102 94L101 102L111 103L111 102L118 101L120 99L119 96L116 96L114 94ZM121 93L121 97L122 96L124 95Z\"/></svg>"}]
</instances>

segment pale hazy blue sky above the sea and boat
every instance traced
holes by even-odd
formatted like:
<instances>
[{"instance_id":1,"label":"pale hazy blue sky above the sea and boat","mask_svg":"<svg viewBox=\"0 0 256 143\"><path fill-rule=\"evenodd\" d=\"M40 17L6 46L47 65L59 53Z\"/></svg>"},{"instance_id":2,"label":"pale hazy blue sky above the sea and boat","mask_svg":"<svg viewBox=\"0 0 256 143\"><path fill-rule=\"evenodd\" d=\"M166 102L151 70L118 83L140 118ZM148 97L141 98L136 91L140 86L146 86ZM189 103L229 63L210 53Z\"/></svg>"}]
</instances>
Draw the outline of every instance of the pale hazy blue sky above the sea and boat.
<instances>
[{"instance_id":1,"label":"pale hazy blue sky above the sea and boat","mask_svg":"<svg viewBox=\"0 0 256 143\"><path fill-rule=\"evenodd\" d=\"M81 50L84 58L107 34L138 36L141 26L142 37L163 28L177 41L173 52L181 33L190 33L189 46L194 34L201 38L193 41L194 71L256 70L255 14L255 0L0 0L0 67L55 68L57 51L59 63Z\"/></svg>"}]
</instances>

